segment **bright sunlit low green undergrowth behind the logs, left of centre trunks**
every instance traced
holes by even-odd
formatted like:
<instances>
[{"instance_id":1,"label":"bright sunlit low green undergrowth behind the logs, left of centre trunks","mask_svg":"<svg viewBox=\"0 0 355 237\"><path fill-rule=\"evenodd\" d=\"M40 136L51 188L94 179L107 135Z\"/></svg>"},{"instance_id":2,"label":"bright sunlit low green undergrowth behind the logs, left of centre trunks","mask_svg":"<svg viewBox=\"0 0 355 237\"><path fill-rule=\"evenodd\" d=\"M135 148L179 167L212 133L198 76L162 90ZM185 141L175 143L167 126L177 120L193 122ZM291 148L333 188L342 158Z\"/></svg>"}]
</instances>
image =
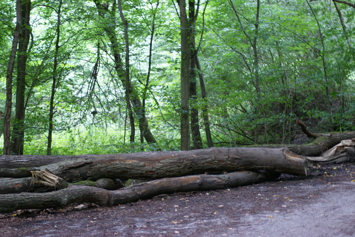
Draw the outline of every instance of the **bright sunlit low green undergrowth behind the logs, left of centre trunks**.
<instances>
[{"instance_id":1,"label":"bright sunlit low green undergrowth behind the logs, left of centre trunks","mask_svg":"<svg viewBox=\"0 0 355 237\"><path fill-rule=\"evenodd\" d=\"M138 134L139 135L139 134ZM66 132L53 134L52 155L84 155L84 154L118 154L149 151L175 151L179 149L179 141L176 135L171 135L171 139L160 138L163 134L158 134L159 144L148 144L141 142L129 143L128 135L124 142L122 131L115 129L100 128L72 129ZM136 138L138 141L139 138ZM47 138L45 135L32 136L25 142L24 155L46 155Z\"/></svg>"}]
</instances>

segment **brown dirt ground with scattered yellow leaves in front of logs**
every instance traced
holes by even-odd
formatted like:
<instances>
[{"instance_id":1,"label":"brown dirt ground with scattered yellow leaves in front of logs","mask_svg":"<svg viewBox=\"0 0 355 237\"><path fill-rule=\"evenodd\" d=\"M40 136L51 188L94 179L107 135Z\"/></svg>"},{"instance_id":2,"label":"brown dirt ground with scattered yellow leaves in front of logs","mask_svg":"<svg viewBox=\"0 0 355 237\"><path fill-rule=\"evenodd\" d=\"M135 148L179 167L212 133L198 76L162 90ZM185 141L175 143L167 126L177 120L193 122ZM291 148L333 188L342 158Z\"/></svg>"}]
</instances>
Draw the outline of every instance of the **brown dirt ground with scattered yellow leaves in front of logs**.
<instances>
[{"instance_id":1,"label":"brown dirt ground with scattered yellow leaves in front of logs","mask_svg":"<svg viewBox=\"0 0 355 237\"><path fill-rule=\"evenodd\" d=\"M76 203L0 214L0 236L355 236L355 163L309 164L308 174L113 207Z\"/></svg>"}]
</instances>

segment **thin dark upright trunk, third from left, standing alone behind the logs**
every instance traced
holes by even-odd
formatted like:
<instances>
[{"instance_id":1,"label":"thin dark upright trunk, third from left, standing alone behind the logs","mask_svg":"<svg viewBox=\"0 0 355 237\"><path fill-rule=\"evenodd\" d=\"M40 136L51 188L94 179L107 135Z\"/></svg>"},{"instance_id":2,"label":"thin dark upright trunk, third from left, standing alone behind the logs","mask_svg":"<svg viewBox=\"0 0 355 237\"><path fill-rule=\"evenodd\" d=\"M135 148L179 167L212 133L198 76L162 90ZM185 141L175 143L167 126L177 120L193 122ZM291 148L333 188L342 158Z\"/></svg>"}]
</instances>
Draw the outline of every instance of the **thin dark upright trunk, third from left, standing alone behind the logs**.
<instances>
[{"instance_id":1,"label":"thin dark upright trunk, third from left, standing alone behind the logs","mask_svg":"<svg viewBox=\"0 0 355 237\"><path fill-rule=\"evenodd\" d=\"M59 0L58 11L57 11L57 30L56 30L56 42L54 51L54 62L53 62L53 81L52 81L52 92L49 102L49 127L48 127L48 139L47 139L47 155L52 154L52 133L53 133L53 115L54 115L54 95L57 89L57 67L58 67L58 51L59 51L59 39L60 39L60 25L61 25L61 9L63 0Z\"/></svg>"}]
</instances>

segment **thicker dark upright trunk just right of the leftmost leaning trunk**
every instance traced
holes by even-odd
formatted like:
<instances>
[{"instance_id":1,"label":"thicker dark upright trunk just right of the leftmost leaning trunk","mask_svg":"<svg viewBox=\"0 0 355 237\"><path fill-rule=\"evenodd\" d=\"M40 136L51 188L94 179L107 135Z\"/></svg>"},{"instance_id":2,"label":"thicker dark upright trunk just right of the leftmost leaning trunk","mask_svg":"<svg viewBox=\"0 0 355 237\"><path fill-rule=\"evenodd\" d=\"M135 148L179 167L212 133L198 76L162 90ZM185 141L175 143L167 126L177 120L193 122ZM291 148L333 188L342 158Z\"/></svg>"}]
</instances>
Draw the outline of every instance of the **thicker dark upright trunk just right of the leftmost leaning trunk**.
<instances>
[{"instance_id":1,"label":"thicker dark upright trunk just right of the leftmost leaning trunk","mask_svg":"<svg viewBox=\"0 0 355 237\"><path fill-rule=\"evenodd\" d=\"M12 130L11 153L22 155L25 136L25 85L27 49L30 42L31 0L21 1L21 29L17 56L16 112Z\"/></svg>"}]
</instances>

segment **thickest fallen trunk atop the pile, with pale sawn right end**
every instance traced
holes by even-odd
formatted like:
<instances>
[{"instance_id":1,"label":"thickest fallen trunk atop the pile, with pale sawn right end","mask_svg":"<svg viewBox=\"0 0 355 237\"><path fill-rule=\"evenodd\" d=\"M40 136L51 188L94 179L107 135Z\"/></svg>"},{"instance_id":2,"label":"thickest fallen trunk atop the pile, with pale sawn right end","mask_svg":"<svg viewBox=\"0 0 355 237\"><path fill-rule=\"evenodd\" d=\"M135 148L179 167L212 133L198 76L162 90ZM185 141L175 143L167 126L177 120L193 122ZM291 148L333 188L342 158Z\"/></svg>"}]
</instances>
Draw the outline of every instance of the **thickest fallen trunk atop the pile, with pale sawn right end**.
<instances>
[{"instance_id":1,"label":"thickest fallen trunk atop the pile, with pale sawn right end","mask_svg":"<svg viewBox=\"0 0 355 237\"><path fill-rule=\"evenodd\" d=\"M31 170L45 169L71 183L101 178L151 180L209 171L239 170L267 170L306 176L306 162L305 157L292 154L287 148L210 148L180 152L76 156L40 167L15 167L9 160L1 160L0 177L31 177Z\"/></svg>"}]
</instances>

